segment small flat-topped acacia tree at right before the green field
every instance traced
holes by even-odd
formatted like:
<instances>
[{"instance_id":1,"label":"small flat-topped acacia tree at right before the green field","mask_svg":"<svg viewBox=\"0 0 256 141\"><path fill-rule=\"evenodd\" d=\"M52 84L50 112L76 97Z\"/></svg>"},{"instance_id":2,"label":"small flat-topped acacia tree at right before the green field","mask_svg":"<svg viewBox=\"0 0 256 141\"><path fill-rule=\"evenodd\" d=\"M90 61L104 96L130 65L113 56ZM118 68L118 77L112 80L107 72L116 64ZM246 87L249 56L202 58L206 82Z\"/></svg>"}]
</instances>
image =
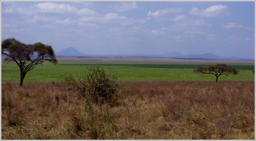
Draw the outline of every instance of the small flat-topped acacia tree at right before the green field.
<instances>
[{"instance_id":1,"label":"small flat-topped acacia tree at right before the green field","mask_svg":"<svg viewBox=\"0 0 256 141\"><path fill-rule=\"evenodd\" d=\"M226 64L208 65L205 68L198 67L194 70L196 73L213 74L216 76L216 82L221 75L229 76L230 74L238 74L238 70Z\"/></svg>"}]
</instances>

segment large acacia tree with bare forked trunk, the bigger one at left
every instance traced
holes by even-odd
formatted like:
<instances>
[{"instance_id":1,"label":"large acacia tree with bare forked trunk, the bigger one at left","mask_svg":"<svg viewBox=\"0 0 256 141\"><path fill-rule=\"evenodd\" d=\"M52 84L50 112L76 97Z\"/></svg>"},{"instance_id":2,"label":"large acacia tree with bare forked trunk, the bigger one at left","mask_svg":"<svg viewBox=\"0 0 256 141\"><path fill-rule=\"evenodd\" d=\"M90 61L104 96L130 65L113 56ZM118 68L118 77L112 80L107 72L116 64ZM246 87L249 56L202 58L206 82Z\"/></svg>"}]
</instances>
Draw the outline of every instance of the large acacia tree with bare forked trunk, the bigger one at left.
<instances>
[{"instance_id":1,"label":"large acacia tree with bare forked trunk, the bigger one at left","mask_svg":"<svg viewBox=\"0 0 256 141\"><path fill-rule=\"evenodd\" d=\"M1 54L6 55L4 61L15 62L20 68L20 85L28 71L31 71L38 64L44 61L57 63L53 48L40 42L35 44L24 44L15 38L8 38L2 41Z\"/></svg>"}]
</instances>

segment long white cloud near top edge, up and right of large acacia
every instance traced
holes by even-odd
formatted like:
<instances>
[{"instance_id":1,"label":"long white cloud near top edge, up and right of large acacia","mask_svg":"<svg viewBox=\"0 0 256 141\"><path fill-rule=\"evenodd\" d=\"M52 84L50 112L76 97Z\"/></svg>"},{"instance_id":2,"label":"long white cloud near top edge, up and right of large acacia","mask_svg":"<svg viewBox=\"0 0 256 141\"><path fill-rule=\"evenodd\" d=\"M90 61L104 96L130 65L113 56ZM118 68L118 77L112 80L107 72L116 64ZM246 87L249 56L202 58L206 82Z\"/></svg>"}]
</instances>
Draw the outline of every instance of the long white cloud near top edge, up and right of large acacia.
<instances>
[{"instance_id":1,"label":"long white cloud near top edge, up and right of large acacia","mask_svg":"<svg viewBox=\"0 0 256 141\"><path fill-rule=\"evenodd\" d=\"M56 3L39 3L34 5L39 9L43 10L43 12L55 12L55 13L75 13L79 15L94 15L97 12L91 9L77 9L68 4L56 4Z\"/></svg>"}]
</instances>

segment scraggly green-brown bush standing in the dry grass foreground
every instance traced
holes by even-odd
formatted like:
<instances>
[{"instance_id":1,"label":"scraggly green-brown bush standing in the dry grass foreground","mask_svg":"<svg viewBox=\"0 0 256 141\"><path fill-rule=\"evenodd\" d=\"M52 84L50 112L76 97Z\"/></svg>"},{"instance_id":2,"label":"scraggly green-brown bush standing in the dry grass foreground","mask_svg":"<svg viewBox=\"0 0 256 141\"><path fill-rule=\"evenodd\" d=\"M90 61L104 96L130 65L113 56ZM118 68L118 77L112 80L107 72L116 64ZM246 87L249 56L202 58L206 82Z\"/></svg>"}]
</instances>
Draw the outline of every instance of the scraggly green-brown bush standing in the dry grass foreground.
<instances>
[{"instance_id":1,"label":"scraggly green-brown bush standing in the dry grass foreground","mask_svg":"<svg viewBox=\"0 0 256 141\"><path fill-rule=\"evenodd\" d=\"M106 72L103 67L92 65L76 79L69 74L64 77L69 89L76 89L82 97L92 103L115 104L121 97L120 83L116 74Z\"/></svg>"}]
</instances>

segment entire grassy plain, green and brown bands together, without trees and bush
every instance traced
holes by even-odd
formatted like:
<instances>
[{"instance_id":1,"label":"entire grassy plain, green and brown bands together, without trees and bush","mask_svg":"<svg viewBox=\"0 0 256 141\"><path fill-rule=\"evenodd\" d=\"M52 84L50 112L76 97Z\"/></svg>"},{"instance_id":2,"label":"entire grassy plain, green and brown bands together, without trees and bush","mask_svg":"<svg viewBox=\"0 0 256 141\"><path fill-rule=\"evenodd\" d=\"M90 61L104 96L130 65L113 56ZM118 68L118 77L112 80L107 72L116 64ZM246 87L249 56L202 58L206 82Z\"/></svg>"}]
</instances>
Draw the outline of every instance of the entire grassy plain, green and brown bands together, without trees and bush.
<instances>
[{"instance_id":1,"label":"entire grassy plain, green and brown bands together, without trees and bush","mask_svg":"<svg viewBox=\"0 0 256 141\"><path fill-rule=\"evenodd\" d=\"M238 75L215 82L194 73L206 64L69 60L38 65L20 87L18 66L2 62L2 139L253 139L254 65L231 63ZM114 106L93 104L93 128L62 78L91 65L116 73L122 93Z\"/></svg>"}]
</instances>

